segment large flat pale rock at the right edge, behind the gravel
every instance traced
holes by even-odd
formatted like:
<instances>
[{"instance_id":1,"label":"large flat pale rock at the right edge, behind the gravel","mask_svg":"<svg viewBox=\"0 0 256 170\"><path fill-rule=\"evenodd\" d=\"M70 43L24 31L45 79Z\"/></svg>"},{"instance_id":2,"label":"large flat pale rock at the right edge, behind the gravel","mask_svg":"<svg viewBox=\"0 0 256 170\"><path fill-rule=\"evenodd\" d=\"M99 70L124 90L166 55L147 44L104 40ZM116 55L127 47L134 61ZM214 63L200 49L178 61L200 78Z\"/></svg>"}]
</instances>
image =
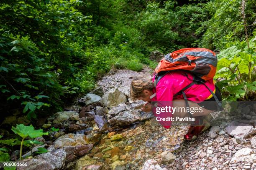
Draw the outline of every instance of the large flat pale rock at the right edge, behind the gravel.
<instances>
[{"instance_id":1,"label":"large flat pale rock at the right edge, behind the gravel","mask_svg":"<svg viewBox=\"0 0 256 170\"><path fill-rule=\"evenodd\" d=\"M225 132L231 136L238 136L240 138L247 138L249 135L253 135L256 133L256 129L253 126L238 123L236 121L230 122L230 125L225 128Z\"/></svg>"}]
</instances>

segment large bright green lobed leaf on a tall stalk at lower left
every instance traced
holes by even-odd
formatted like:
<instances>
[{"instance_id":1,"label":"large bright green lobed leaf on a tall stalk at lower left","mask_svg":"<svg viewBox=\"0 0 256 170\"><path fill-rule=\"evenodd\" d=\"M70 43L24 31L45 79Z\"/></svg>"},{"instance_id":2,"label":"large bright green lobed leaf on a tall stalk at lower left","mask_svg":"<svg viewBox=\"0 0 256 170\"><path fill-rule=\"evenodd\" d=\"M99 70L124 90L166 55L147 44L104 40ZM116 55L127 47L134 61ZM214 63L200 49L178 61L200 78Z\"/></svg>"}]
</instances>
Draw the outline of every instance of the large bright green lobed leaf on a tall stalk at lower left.
<instances>
[{"instance_id":1,"label":"large bright green lobed leaf on a tall stalk at lower left","mask_svg":"<svg viewBox=\"0 0 256 170\"><path fill-rule=\"evenodd\" d=\"M44 133L42 129L35 130L32 125L30 126L25 126L23 124L16 125L16 128L12 127L12 130L14 133L20 135L21 138L37 138L42 135L47 135L48 133Z\"/></svg>"}]
</instances>

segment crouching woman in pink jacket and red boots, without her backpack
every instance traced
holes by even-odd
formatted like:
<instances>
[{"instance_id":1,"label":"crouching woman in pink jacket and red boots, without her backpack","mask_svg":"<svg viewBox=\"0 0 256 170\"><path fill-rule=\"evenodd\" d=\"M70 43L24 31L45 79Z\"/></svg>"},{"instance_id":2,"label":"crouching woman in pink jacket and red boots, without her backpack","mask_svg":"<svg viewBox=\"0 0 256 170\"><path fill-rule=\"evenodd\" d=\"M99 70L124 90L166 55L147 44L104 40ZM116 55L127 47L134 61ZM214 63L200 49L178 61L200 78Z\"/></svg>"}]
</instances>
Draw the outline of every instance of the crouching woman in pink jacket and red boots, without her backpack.
<instances>
[{"instance_id":1,"label":"crouching woman in pink jacket and red boots, without her backpack","mask_svg":"<svg viewBox=\"0 0 256 170\"><path fill-rule=\"evenodd\" d=\"M136 77L131 82L130 95L133 99L143 100L146 102L145 105L141 108L141 110L145 112L153 111L155 116L156 107L152 107L151 102L157 102L158 107L186 107L186 103L184 101L183 95L175 95L180 90L182 90L187 85L193 82L193 75L189 72L185 71L172 71L164 75L161 80L157 83L156 87L154 87L154 76L152 80L148 80L144 77ZM218 88L214 85L213 79L207 80L205 85L212 90L213 93L218 97L218 100L221 100L221 94ZM191 87L184 90L187 100L189 101L189 107L201 107L202 112L196 112L192 115L196 120L202 116L207 116L212 112L212 110L216 110L217 106L214 104L208 104L203 107L203 101L215 101L211 92L207 89L207 87L203 84L194 84ZM174 96L175 95L175 96ZM182 102L181 102L182 101ZM152 108L151 108L152 107ZM172 115L171 112L161 112L161 117L174 117L178 115L179 117L185 117L188 115L187 112L176 112ZM170 128L172 121L159 121L164 128ZM197 137L203 130L205 126L190 126L189 132L184 135L185 140L192 140Z\"/></svg>"}]
</instances>

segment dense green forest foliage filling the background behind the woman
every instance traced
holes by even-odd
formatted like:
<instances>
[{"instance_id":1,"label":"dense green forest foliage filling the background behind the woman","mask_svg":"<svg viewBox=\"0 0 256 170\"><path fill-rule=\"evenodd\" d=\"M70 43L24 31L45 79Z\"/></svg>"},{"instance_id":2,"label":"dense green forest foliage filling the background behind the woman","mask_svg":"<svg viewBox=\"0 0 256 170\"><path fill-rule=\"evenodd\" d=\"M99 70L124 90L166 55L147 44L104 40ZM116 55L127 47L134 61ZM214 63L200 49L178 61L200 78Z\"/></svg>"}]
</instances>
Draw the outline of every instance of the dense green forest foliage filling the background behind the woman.
<instances>
[{"instance_id":1,"label":"dense green forest foliage filling the background behind the woman","mask_svg":"<svg viewBox=\"0 0 256 170\"><path fill-rule=\"evenodd\" d=\"M245 9L249 37L254 5L247 1ZM239 0L2 0L0 9L3 117L14 108L28 119L51 115L78 93L92 90L112 67L154 68L156 62L148 59L153 50L230 50L219 55L217 76L228 77L229 85L236 85L237 77L241 83L248 80L245 95L254 89L253 54L244 49ZM233 76L225 75L232 71L224 62L230 62Z\"/></svg>"}]
</instances>

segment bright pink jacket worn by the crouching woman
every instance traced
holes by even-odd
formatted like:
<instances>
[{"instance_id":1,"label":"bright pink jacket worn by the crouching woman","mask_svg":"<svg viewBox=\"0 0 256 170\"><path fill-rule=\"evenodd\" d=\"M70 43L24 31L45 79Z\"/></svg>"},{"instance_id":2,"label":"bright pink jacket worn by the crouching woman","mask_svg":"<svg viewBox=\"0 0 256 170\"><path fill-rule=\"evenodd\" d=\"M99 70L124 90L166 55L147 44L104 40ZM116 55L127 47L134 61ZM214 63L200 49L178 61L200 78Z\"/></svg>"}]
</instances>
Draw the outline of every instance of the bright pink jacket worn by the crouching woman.
<instances>
[{"instance_id":1,"label":"bright pink jacket worn by the crouching woman","mask_svg":"<svg viewBox=\"0 0 256 170\"><path fill-rule=\"evenodd\" d=\"M187 78L184 73L187 73ZM152 77L152 81L154 82L155 78ZM183 99L183 95L175 96L174 95L182 90L182 88L189 85L193 80L193 75L189 72L184 71L175 71L175 72L169 72L164 77L161 78L161 80L157 83L156 89L154 89L154 92L156 92L156 96L151 99L151 102L157 101L158 104L160 101L162 102L162 107L165 106L171 106L172 107L172 100L173 99ZM205 84L215 93L215 85L213 82L213 79L207 80ZM205 85L192 85L188 89L184 90L187 100L193 101L196 103L200 103L206 99L209 99L212 97L211 92L205 87ZM161 107L158 105L158 107ZM153 113L156 115L156 108L153 107ZM161 113L160 117L172 117L172 114L170 112L164 112ZM172 122L171 121L159 121L165 128L170 128Z\"/></svg>"}]
</instances>

